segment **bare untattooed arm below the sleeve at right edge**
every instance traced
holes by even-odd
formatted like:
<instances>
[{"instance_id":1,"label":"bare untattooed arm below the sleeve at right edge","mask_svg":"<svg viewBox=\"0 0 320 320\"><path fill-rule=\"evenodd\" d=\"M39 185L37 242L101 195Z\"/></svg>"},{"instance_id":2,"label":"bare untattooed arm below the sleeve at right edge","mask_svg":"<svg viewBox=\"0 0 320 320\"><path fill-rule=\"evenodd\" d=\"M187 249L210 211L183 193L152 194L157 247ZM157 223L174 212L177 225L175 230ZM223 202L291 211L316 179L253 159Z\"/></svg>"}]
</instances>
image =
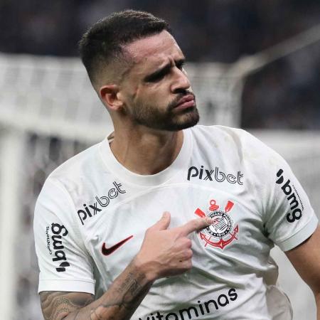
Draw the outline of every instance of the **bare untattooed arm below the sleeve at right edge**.
<instances>
[{"instance_id":1,"label":"bare untattooed arm below the sleeve at right edge","mask_svg":"<svg viewBox=\"0 0 320 320\"><path fill-rule=\"evenodd\" d=\"M320 320L320 227L310 238L285 252L294 268L314 292L317 320Z\"/></svg>"}]
</instances>

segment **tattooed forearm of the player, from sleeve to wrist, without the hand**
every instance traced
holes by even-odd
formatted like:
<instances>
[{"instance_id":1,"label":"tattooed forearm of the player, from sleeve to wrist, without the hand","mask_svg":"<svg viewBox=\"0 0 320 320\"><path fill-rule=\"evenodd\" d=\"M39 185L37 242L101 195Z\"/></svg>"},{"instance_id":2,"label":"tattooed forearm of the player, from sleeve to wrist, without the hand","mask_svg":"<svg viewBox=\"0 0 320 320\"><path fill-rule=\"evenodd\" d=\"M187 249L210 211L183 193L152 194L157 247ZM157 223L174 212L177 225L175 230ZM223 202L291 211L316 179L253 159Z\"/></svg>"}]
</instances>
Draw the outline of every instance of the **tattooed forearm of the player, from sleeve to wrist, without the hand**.
<instances>
[{"instance_id":1,"label":"tattooed forearm of the player, from sleeve to wrist, without the hand","mask_svg":"<svg viewBox=\"0 0 320 320\"><path fill-rule=\"evenodd\" d=\"M114 280L107 292L97 299L80 299L77 292L60 295L53 292L43 296L46 320L127 320L149 292L152 281L131 262ZM83 294L82 294L83 297ZM48 314L48 316L46 316Z\"/></svg>"}]
</instances>

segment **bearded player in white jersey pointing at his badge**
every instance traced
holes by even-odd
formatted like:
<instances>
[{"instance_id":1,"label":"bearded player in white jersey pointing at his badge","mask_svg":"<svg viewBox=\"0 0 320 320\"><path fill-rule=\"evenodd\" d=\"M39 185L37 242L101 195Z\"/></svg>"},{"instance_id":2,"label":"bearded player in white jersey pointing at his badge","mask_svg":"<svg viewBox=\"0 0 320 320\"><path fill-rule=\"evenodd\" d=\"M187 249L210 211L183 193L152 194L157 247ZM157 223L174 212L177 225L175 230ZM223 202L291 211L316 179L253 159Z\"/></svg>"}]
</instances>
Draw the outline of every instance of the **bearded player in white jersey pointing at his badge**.
<instances>
[{"instance_id":1,"label":"bearded player in white jersey pointing at his badge","mask_svg":"<svg viewBox=\"0 0 320 320\"><path fill-rule=\"evenodd\" d=\"M80 53L114 134L53 171L38 198L45 319L292 319L274 243L319 305L308 198L250 134L193 127L195 96L168 24L122 11L92 26Z\"/></svg>"}]
</instances>

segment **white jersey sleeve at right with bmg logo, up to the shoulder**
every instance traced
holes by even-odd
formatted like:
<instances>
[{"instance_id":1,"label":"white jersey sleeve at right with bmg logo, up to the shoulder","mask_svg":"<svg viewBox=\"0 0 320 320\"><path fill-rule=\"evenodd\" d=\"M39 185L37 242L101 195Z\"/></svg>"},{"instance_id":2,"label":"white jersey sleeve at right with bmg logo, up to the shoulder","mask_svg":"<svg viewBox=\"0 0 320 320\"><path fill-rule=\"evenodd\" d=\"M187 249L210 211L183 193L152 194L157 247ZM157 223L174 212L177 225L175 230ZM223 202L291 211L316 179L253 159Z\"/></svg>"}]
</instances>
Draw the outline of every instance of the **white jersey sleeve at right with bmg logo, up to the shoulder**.
<instances>
[{"instance_id":1,"label":"white jersey sleeve at right with bmg logo, up to the shoulder","mask_svg":"<svg viewBox=\"0 0 320 320\"><path fill-rule=\"evenodd\" d=\"M262 203L262 219L268 238L282 251L309 238L318 219L308 196L287 162L265 144L250 139L257 198ZM251 151L252 152L252 151Z\"/></svg>"}]
</instances>

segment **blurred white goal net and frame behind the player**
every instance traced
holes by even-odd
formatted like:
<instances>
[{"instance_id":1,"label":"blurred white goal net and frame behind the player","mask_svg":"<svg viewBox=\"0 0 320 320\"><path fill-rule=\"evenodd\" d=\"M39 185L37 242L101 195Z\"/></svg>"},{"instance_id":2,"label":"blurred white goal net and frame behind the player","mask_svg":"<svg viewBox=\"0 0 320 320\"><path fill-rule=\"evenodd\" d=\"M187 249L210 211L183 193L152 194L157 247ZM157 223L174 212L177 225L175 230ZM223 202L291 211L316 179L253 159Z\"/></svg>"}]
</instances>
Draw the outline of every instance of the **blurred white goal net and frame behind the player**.
<instances>
[{"instance_id":1,"label":"blurred white goal net and frame behind the player","mask_svg":"<svg viewBox=\"0 0 320 320\"><path fill-rule=\"evenodd\" d=\"M245 76L318 41L310 37L291 43L291 51L287 43L286 50L275 48L231 65L188 64L202 124L238 127ZM0 55L0 89L1 314L8 320L40 320L32 231L36 198L53 169L103 139L112 124L75 58ZM320 134L255 134L289 161L319 208Z\"/></svg>"}]
</instances>

